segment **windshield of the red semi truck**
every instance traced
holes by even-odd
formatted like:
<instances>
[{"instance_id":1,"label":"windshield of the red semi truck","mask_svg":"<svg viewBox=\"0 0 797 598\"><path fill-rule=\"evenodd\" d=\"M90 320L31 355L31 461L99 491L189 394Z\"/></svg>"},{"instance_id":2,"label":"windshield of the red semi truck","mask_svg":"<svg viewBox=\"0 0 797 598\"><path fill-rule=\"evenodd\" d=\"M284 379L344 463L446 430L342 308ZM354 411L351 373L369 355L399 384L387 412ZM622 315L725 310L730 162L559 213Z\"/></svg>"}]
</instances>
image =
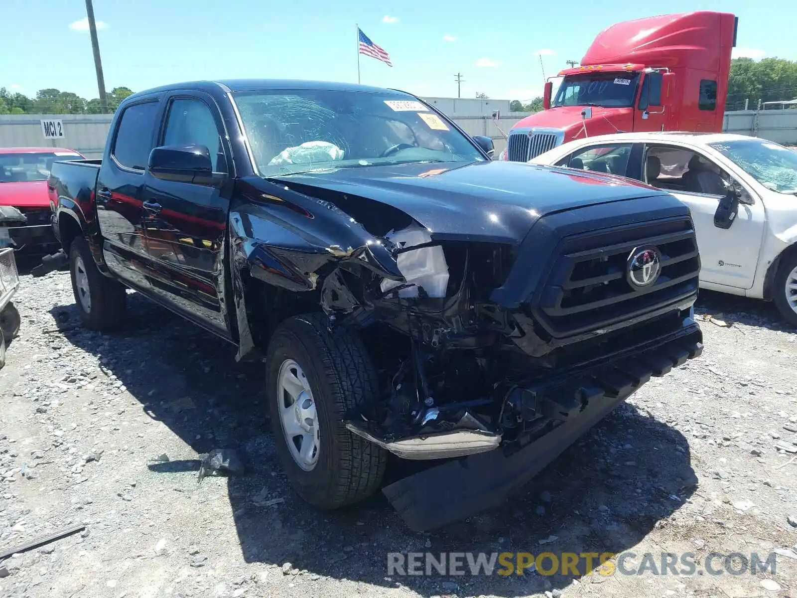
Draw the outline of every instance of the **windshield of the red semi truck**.
<instances>
[{"instance_id":1,"label":"windshield of the red semi truck","mask_svg":"<svg viewBox=\"0 0 797 598\"><path fill-rule=\"evenodd\" d=\"M583 73L567 75L552 106L602 106L629 108L634 105L639 73Z\"/></svg>"}]
</instances>

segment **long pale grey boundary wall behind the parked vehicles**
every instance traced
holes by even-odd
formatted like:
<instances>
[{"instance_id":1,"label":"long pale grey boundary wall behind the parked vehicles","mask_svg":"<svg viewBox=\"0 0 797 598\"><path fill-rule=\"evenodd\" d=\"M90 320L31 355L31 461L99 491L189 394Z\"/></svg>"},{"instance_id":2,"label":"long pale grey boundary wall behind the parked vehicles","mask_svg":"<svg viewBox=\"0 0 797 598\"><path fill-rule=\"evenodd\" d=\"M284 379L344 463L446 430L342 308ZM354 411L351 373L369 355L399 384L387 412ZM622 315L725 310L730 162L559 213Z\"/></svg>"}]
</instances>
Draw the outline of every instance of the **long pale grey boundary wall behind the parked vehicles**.
<instances>
[{"instance_id":1,"label":"long pale grey boundary wall behind the parked vehicles","mask_svg":"<svg viewBox=\"0 0 797 598\"><path fill-rule=\"evenodd\" d=\"M492 137L498 153L506 146L505 133L524 116L527 115L521 112L502 112L498 122L491 116L453 116L453 120L469 135ZM0 148L65 147L80 151L87 158L100 158L112 118L110 114L3 114L0 115ZM63 138L45 139L41 120L47 119L61 120ZM797 110L726 112L724 131L797 145Z\"/></svg>"}]
</instances>

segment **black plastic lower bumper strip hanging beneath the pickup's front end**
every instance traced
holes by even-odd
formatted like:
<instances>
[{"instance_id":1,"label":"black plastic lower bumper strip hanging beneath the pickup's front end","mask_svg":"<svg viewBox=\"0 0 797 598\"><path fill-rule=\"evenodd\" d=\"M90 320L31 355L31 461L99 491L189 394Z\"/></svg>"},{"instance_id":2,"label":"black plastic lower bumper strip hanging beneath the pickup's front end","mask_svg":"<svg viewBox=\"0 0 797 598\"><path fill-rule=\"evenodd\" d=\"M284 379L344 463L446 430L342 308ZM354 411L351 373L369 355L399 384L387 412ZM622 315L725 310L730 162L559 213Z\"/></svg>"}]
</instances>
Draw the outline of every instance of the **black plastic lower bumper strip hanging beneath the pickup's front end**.
<instances>
[{"instance_id":1,"label":"black plastic lower bumper strip hanging beneath the pickup's front end","mask_svg":"<svg viewBox=\"0 0 797 598\"><path fill-rule=\"evenodd\" d=\"M697 325L688 335L590 372L602 391L592 394L583 408L520 450L493 450L453 459L383 488L391 505L414 531L438 529L484 509L499 506L508 495L548 466L567 447L594 427L615 407L650 380L664 376L686 360L700 356L702 336ZM573 380L571 390L583 388ZM556 388L561 389L559 384ZM568 414L570 415L570 414Z\"/></svg>"}]
</instances>

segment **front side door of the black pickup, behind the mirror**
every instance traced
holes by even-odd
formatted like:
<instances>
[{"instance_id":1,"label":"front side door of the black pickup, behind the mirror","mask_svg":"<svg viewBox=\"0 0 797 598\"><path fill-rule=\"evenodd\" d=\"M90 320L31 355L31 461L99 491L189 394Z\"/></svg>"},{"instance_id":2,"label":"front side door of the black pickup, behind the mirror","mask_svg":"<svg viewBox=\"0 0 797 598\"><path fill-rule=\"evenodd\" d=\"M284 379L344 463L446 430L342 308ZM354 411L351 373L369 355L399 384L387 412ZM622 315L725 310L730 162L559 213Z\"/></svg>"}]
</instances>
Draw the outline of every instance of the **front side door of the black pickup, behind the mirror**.
<instances>
[{"instance_id":1,"label":"front side door of the black pickup, behind the mirror","mask_svg":"<svg viewBox=\"0 0 797 598\"><path fill-rule=\"evenodd\" d=\"M218 107L202 92L175 92L167 100L159 147L204 146L217 180L232 160ZM228 165L229 162L229 165ZM224 238L229 199L219 185L144 176L143 222L155 296L226 338ZM225 187L226 188L226 187Z\"/></svg>"}]
</instances>

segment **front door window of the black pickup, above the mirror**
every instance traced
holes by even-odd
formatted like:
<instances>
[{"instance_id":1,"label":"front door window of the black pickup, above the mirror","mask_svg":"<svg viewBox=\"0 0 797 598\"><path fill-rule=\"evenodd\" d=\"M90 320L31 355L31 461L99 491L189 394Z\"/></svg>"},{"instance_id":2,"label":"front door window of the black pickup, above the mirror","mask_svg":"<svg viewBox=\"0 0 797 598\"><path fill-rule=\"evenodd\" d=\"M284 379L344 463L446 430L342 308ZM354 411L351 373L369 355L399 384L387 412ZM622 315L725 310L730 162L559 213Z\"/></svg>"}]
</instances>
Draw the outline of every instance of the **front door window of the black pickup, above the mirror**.
<instances>
[{"instance_id":1,"label":"front door window of the black pickup, above the mirror","mask_svg":"<svg viewBox=\"0 0 797 598\"><path fill-rule=\"evenodd\" d=\"M179 98L172 101L163 145L204 145L210 151L214 172L227 171L224 146L213 112L201 100Z\"/></svg>"}]
</instances>

